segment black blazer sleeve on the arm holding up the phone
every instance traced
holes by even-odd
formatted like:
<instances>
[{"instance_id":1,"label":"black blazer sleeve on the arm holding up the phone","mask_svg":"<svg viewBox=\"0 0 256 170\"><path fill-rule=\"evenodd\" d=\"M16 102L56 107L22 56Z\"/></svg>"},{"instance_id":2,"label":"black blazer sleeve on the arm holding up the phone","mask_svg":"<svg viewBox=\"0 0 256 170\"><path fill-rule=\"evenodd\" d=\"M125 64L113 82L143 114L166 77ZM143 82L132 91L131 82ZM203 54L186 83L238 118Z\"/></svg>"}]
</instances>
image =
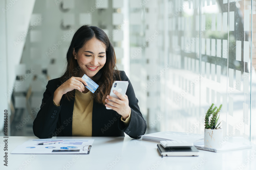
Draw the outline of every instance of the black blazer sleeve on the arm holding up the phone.
<instances>
[{"instance_id":1,"label":"black blazer sleeve on the arm holding up the phone","mask_svg":"<svg viewBox=\"0 0 256 170\"><path fill-rule=\"evenodd\" d=\"M139 136L145 134L147 124L141 114L140 108L138 106L138 99L135 97L132 84L124 71L121 72L121 80L129 82L126 95L128 96L129 106L131 108L131 120L129 125L125 126L123 121L118 119L118 128L129 135L131 138L139 138Z\"/></svg>"}]
</instances>

